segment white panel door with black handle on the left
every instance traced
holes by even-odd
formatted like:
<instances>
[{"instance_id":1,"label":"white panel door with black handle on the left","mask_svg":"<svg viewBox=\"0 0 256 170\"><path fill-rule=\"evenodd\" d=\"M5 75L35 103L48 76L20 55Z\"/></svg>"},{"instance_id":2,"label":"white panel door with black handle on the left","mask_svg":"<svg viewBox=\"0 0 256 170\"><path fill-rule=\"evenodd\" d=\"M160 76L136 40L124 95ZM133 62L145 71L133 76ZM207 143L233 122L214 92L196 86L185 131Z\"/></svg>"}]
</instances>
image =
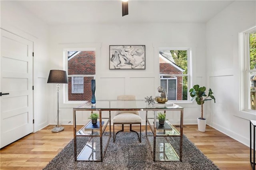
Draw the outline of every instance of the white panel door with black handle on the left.
<instances>
[{"instance_id":1,"label":"white panel door with black handle on the left","mask_svg":"<svg viewBox=\"0 0 256 170\"><path fill-rule=\"evenodd\" d=\"M33 42L1 29L1 148L33 132L32 52Z\"/></svg>"}]
</instances>

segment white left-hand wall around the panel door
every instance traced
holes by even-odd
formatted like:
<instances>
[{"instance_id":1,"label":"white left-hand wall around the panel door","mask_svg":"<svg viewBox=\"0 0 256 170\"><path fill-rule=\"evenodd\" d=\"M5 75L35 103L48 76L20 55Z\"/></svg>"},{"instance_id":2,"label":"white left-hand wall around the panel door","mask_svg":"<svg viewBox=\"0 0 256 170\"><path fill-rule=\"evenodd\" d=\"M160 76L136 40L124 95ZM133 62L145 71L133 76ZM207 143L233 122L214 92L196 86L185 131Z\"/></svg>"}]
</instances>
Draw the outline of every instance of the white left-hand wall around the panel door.
<instances>
[{"instance_id":1,"label":"white left-hand wall around the panel door","mask_svg":"<svg viewBox=\"0 0 256 170\"><path fill-rule=\"evenodd\" d=\"M48 27L17 2L1 1L1 28L34 42L34 130L37 131L48 125Z\"/></svg>"}]
</instances>

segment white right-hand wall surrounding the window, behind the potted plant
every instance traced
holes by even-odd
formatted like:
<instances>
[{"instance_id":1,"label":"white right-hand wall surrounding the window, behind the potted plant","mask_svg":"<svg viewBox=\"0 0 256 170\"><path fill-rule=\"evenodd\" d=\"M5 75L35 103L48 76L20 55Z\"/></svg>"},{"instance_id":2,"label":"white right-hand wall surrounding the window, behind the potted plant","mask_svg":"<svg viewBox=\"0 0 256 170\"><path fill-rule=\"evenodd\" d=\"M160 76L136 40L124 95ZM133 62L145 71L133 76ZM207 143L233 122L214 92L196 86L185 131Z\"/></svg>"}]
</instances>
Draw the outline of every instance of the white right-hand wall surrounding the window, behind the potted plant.
<instances>
[{"instance_id":1,"label":"white right-hand wall surrounding the window, behind the potted plant","mask_svg":"<svg viewBox=\"0 0 256 170\"><path fill-rule=\"evenodd\" d=\"M208 124L247 146L249 121L234 116L240 112L238 33L255 25L255 1L235 1L206 23L207 83L216 98Z\"/></svg>"}]
</instances>

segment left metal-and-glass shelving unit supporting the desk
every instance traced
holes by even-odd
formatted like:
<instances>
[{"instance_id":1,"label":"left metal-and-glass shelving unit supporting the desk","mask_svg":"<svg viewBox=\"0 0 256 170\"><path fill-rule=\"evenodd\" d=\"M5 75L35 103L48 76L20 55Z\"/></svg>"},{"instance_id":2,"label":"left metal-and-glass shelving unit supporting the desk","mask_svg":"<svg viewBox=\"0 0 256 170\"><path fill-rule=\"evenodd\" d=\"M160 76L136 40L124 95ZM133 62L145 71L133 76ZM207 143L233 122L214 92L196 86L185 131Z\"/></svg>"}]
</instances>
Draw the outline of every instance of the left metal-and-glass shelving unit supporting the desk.
<instances>
[{"instance_id":1,"label":"left metal-and-glass shelving unit supporting the desk","mask_svg":"<svg viewBox=\"0 0 256 170\"><path fill-rule=\"evenodd\" d=\"M92 121L88 121L86 125L76 130L76 111L82 110L84 109L73 109L75 161L102 162L111 138L111 115L109 113L108 118L102 118L102 111L99 110L100 121L98 121L97 125L92 125ZM109 132L105 132L107 126L109 126Z\"/></svg>"}]
</instances>

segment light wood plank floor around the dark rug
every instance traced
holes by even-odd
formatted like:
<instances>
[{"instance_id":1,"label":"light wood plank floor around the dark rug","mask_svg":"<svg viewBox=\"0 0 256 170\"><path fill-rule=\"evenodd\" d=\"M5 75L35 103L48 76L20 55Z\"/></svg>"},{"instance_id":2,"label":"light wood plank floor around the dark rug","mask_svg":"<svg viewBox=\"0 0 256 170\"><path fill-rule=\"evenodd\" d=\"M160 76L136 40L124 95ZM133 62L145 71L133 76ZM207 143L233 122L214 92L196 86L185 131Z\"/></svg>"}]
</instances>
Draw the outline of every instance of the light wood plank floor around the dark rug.
<instances>
[{"instance_id":1,"label":"light wood plank floor around the dark rug","mask_svg":"<svg viewBox=\"0 0 256 170\"><path fill-rule=\"evenodd\" d=\"M252 169L250 148L244 144L208 126L206 132L199 132L197 125L184 126L184 134L220 169ZM64 131L52 133L52 126L48 126L2 148L0 150L0 169L41 170L72 140L72 125L64 127ZM136 127L134 129L136 130ZM142 130L145 130L145 126L142 127ZM183 154L186 153L183 152Z\"/></svg>"}]
</instances>

